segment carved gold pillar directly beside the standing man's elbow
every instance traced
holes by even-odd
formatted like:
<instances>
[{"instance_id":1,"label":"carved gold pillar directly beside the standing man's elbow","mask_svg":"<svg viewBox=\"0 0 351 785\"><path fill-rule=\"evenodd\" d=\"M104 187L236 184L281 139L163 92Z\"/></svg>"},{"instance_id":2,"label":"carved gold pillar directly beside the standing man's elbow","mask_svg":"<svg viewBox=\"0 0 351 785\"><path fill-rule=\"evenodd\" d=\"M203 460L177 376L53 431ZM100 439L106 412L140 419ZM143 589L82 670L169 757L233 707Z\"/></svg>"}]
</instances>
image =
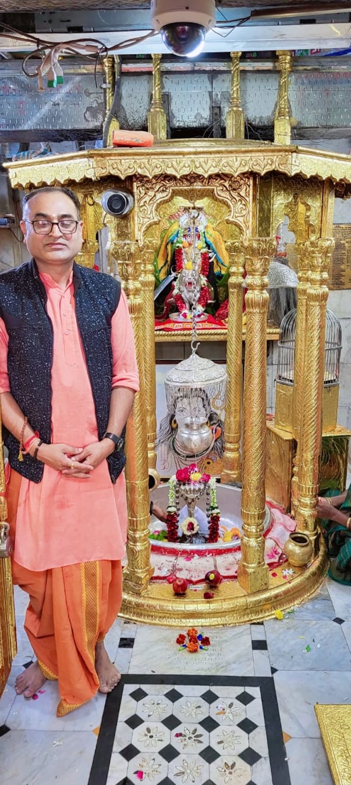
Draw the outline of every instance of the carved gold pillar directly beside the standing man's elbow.
<instances>
[{"instance_id":1,"label":"carved gold pillar directly beside the standing man's elbow","mask_svg":"<svg viewBox=\"0 0 351 785\"><path fill-rule=\"evenodd\" d=\"M115 246L117 243L115 243ZM150 566L149 472L147 462L147 418L143 365L143 297L140 283L141 261L136 243L121 243L118 266L132 319L140 391L136 393L126 433L125 480L128 502L128 565L123 572L126 592L142 594L148 586ZM127 260L127 261L126 261Z\"/></svg>"}]
</instances>

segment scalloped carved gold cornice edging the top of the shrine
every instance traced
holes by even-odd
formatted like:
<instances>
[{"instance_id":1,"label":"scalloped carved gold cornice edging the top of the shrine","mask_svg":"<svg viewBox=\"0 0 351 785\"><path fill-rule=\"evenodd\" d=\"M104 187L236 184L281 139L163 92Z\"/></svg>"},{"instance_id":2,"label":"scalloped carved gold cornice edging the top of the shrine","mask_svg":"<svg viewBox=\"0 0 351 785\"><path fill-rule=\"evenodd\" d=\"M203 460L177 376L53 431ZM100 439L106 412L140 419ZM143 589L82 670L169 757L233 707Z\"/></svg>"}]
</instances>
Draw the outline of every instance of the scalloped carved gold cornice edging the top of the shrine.
<instances>
[{"instance_id":1,"label":"scalloped carved gold cornice edging the top of the shrine","mask_svg":"<svg viewBox=\"0 0 351 785\"><path fill-rule=\"evenodd\" d=\"M42 184L63 184L67 181L100 180L103 177L141 175L182 177L197 173L201 177L222 172L232 177L251 172L264 175L280 172L288 177L300 175L318 180L330 179L345 184L351 193L351 159L322 150L270 142L233 140L168 140L152 148L92 149L67 155L49 155L43 159L5 164L13 188L33 188Z\"/></svg>"}]
</instances>

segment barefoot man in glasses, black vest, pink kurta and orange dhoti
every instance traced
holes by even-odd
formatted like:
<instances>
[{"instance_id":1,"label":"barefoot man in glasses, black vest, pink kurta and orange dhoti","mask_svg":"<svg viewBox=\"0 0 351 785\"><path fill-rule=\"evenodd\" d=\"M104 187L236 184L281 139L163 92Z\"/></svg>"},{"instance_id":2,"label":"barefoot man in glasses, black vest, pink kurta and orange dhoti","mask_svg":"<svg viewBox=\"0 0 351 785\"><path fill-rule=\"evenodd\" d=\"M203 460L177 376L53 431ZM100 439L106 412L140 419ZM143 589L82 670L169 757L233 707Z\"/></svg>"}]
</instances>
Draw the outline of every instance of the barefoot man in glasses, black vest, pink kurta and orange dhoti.
<instances>
[{"instance_id":1,"label":"barefoot man in glasses, black vest, pink kurta and orange dhoti","mask_svg":"<svg viewBox=\"0 0 351 785\"><path fill-rule=\"evenodd\" d=\"M24 197L30 262L0 276L0 401L9 450L13 582L29 594L31 698L58 680L57 716L120 679L103 639L121 605L125 424L138 391L121 284L81 267L69 188Z\"/></svg>"}]
</instances>

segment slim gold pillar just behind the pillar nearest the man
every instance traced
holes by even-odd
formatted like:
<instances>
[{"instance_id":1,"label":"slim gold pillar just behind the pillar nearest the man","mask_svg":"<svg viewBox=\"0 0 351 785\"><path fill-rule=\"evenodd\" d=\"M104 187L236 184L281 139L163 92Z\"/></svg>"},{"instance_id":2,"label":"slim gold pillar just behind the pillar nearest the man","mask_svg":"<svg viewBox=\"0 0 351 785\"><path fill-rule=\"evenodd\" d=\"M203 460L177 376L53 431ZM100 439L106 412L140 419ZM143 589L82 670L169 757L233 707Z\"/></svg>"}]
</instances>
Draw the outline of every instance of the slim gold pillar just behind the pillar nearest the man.
<instances>
[{"instance_id":1,"label":"slim gold pillar just behind the pillar nearest the man","mask_svg":"<svg viewBox=\"0 0 351 785\"><path fill-rule=\"evenodd\" d=\"M147 412L147 454L150 469L156 469L156 356L154 320L154 254L155 243L145 243L141 248L143 291L143 353L145 375L145 401Z\"/></svg>"}]
</instances>

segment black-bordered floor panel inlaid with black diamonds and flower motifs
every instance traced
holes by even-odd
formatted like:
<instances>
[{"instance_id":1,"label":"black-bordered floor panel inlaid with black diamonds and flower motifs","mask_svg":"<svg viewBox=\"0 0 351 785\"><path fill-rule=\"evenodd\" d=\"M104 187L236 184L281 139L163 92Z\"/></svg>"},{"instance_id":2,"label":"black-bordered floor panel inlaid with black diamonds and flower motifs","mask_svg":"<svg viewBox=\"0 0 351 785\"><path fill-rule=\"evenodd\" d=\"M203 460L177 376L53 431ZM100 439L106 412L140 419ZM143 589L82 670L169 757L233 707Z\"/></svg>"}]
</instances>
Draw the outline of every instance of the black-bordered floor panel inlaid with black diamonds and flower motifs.
<instances>
[{"instance_id":1,"label":"black-bordered floor panel inlaid with black diamonds and flower motifs","mask_svg":"<svg viewBox=\"0 0 351 785\"><path fill-rule=\"evenodd\" d=\"M140 782L290 785L273 678L126 676L89 785Z\"/></svg>"}]
</instances>

